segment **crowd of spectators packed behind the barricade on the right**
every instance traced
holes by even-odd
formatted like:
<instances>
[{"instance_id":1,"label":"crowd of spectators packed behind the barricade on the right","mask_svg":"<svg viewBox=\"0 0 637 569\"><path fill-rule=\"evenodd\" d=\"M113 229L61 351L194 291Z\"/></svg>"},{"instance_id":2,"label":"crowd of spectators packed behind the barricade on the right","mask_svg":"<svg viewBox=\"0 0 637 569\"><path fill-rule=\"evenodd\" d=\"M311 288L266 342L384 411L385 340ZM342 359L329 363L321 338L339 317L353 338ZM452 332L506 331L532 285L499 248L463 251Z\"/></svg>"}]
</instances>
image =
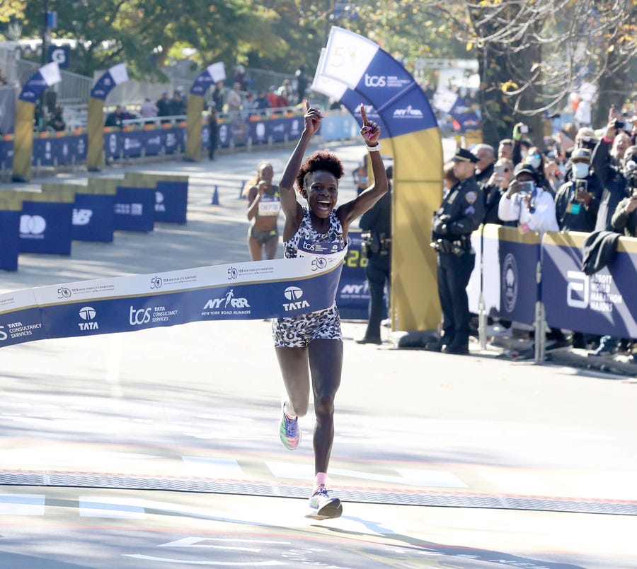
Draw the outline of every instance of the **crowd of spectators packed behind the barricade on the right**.
<instances>
[{"instance_id":1,"label":"crowd of spectators packed behind the barricade on the right","mask_svg":"<svg viewBox=\"0 0 637 569\"><path fill-rule=\"evenodd\" d=\"M614 242L619 235L637 237L636 114L613 107L609 122L601 129L566 125L541 143L519 123L512 137L501 140L497 150L488 144L476 144L471 153L484 204L483 223L510 225L522 233L588 233L585 250L600 240ZM448 164L446 180L450 172ZM447 191L455 183L448 182ZM602 264L595 270L612 256L599 259ZM510 327L511 323L499 324ZM573 334L550 330L547 348L585 348L593 357L621 352L635 362L636 339L566 332Z\"/></svg>"}]
</instances>

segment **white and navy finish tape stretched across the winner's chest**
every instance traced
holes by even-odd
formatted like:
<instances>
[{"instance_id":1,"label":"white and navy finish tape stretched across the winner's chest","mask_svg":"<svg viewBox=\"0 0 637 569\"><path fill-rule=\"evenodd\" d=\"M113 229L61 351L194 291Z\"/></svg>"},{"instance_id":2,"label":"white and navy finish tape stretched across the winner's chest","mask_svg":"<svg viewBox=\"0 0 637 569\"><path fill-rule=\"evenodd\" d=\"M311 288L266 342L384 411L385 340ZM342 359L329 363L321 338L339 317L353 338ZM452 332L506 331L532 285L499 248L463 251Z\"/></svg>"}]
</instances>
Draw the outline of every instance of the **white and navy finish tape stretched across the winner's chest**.
<instances>
[{"instance_id":1,"label":"white and navy finish tape stretched across the winner's chest","mask_svg":"<svg viewBox=\"0 0 637 569\"><path fill-rule=\"evenodd\" d=\"M334 303L346 253L100 278L4 293L0 295L0 346L323 310Z\"/></svg>"}]
</instances>

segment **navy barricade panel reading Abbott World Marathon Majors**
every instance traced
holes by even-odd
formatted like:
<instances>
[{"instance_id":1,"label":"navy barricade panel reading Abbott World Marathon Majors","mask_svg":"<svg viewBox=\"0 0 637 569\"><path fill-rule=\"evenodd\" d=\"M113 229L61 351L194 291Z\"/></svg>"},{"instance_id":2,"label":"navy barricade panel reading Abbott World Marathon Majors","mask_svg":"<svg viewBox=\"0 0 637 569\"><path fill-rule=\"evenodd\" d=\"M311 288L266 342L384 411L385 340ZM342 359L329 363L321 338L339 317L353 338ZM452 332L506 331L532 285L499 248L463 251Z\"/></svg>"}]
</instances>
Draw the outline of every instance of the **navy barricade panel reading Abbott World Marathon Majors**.
<instances>
[{"instance_id":1,"label":"navy barricade panel reading Abbott World Marathon Majors","mask_svg":"<svg viewBox=\"0 0 637 569\"><path fill-rule=\"evenodd\" d=\"M542 241L546 321L551 328L637 338L637 239L620 237L613 262L582 271L586 233L549 233Z\"/></svg>"}]
</instances>

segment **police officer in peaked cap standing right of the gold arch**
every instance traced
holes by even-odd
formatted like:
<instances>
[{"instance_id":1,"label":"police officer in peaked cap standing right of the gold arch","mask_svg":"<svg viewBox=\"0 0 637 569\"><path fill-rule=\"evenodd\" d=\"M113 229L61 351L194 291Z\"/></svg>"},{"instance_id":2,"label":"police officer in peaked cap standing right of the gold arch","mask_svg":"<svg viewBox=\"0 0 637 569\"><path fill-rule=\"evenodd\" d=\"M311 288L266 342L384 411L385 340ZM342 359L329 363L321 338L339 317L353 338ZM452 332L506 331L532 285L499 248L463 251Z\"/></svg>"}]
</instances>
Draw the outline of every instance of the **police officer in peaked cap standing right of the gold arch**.
<instances>
[{"instance_id":1,"label":"police officer in peaked cap standing right of the gold arch","mask_svg":"<svg viewBox=\"0 0 637 569\"><path fill-rule=\"evenodd\" d=\"M466 286L476 264L471 233L484 217L484 200L475 177L478 158L458 148L454 175L459 182L447 192L432 218L431 246L438 254L438 296L442 306L443 336L427 349L444 353L469 353L469 299Z\"/></svg>"}]
</instances>

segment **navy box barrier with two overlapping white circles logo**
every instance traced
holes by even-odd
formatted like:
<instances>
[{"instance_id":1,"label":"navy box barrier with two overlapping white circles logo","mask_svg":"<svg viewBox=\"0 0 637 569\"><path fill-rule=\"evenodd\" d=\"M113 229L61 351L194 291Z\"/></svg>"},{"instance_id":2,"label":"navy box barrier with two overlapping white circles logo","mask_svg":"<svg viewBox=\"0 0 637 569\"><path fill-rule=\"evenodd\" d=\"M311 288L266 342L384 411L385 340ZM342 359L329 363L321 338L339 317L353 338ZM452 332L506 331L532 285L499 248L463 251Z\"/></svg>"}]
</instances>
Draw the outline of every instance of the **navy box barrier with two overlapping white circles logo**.
<instances>
[{"instance_id":1,"label":"navy box barrier with two overlapping white circles logo","mask_svg":"<svg viewBox=\"0 0 637 569\"><path fill-rule=\"evenodd\" d=\"M23 201L20 216L21 253L71 254L73 204Z\"/></svg>"}]
</instances>

